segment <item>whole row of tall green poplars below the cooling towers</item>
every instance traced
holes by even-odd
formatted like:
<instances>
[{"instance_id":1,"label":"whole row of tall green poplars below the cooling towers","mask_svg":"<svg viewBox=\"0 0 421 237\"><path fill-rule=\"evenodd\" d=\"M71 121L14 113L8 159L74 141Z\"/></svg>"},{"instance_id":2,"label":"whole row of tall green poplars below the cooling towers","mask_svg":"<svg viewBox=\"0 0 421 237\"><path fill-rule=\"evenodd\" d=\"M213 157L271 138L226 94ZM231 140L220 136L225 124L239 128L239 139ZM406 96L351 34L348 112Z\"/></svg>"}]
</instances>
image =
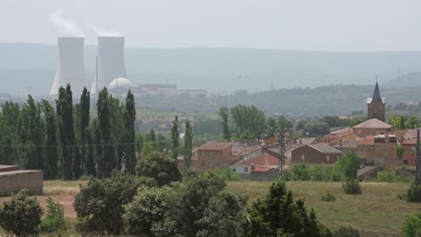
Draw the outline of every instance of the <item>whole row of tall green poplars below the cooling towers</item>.
<instances>
[{"instance_id":1,"label":"whole row of tall green poplars below the cooling towers","mask_svg":"<svg viewBox=\"0 0 421 237\"><path fill-rule=\"evenodd\" d=\"M0 112L0 163L43 170L48 180L110 177L113 170L134 173L133 94L129 91L122 102L103 88L96 116L91 115L86 88L79 102L74 101L69 84L59 88L55 108L31 95L22 106L6 101Z\"/></svg>"}]
</instances>

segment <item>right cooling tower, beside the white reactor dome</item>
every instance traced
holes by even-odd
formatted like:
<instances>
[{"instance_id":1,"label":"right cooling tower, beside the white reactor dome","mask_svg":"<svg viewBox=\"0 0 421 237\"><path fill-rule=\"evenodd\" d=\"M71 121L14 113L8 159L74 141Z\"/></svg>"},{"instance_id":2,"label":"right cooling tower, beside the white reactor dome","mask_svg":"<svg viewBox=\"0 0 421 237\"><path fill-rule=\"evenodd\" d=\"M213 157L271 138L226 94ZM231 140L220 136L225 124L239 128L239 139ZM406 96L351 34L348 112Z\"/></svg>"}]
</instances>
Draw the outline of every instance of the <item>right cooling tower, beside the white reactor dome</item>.
<instances>
[{"instance_id":1,"label":"right cooling tower, beside the white reactor dome","mask_svg":"<svg viewBox=\"0 0 421 237\"><path fill-rule=\"evenodd\" d=\"M91 93L99 92L115 78L127 78L124 66L124 37L98 37L97 78Z\"/></svg>"}]
</instances>

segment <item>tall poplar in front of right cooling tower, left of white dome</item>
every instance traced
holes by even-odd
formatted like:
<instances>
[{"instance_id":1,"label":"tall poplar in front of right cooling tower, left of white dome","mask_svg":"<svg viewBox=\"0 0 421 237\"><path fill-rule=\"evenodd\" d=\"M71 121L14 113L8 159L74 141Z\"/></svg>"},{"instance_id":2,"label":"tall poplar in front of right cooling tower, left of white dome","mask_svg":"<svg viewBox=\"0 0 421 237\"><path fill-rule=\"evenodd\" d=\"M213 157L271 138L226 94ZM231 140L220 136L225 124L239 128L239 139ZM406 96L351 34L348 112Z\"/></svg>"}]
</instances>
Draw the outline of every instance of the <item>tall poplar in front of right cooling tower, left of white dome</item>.
<instances>
[{"instance_id":1,"label":"tall poplar in front of right cooling tower, left of white dome","mask_svg":"<svg viewBox=\"0 0 421 237\"><path fill-rule=\"evenodd\" d=\"M96 102L98 111L99 128L101 131L102 153L98 156L100 160L100 177L110 177L115 166L115 154L112 149L111 121L110 121L110 98L107 88L103 88L98 95Z\"/></svg>"}]
</instances>

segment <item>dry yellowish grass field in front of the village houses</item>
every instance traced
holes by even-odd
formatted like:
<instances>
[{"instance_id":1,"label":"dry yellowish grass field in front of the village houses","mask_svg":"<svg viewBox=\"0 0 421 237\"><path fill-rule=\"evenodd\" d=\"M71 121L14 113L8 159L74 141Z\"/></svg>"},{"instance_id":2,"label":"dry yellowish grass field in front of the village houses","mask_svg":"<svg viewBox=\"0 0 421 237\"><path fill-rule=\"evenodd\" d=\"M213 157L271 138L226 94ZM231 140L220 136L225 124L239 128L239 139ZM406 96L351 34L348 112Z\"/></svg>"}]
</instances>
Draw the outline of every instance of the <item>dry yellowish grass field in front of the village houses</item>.
<instances>
[{"instance_id":1,"label":"dry yellowish grass field in front of the village houses","mask_svg":"<svg viewBox=\"0 0 421 237\"><path fill-rule=\"evenodd\" d=\"M235 192L249 197L250 204L263 198L271 182L228 182ZM409 188L402 183L362 182L362 195L346 195L342 183L288 182L294 198L304 198L308 208L314 208L318 220L331 228L340 225L360 230L362 236L401 236L402 224L408 215L421 212L421 204L408 203L397 196ZM330 192L336 201L323 202L321 196Z\"/></svg>"}]
</instances>

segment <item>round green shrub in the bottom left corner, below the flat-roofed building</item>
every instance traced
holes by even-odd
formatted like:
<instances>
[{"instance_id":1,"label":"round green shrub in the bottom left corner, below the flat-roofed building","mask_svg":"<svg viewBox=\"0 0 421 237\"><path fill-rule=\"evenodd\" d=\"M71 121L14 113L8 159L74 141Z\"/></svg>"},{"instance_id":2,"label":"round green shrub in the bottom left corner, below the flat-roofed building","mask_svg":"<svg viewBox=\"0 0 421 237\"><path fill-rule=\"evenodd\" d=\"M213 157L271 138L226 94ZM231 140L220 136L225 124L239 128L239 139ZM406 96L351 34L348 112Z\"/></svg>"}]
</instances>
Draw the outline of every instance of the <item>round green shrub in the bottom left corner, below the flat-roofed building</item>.
<instances>
[{"instance_id":1,"label":"round green shrub in the bottom left corner, below the flat-roofed building","mask_svg":"<svg viewBox=\"0 0 421 237\"><path fill-rule=\"evenodd\" d=\"M28 190L22 189L0 207L0 226L17 236L37 233L41 215L37 198L30 198Z\"/></svg>"}]
</instances>

